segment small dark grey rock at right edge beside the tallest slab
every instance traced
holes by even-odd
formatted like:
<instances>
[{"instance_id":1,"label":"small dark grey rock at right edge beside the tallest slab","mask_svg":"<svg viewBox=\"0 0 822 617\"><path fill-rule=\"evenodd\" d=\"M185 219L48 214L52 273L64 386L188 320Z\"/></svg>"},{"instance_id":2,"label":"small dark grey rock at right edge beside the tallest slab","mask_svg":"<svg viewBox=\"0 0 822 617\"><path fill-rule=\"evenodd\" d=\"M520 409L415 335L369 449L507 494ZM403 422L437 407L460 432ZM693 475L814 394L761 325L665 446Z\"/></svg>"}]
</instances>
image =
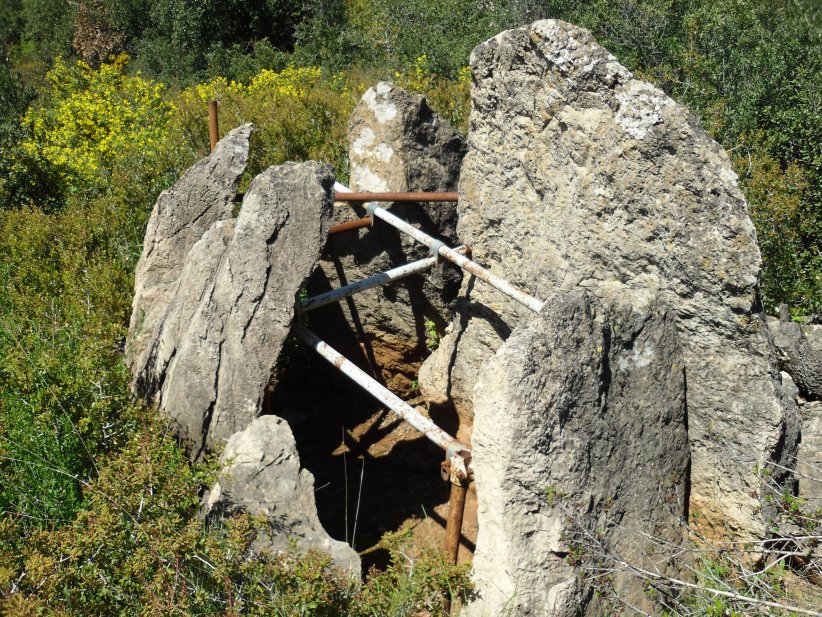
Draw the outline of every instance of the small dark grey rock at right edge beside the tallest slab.
<instances>
[{"instance_id":1,"label":"small dark grey rock at right edge beside the tallest slab","mask_svg":"<svg viewBox=\"0 0 822 617\"><path fill-rule=\"evenodd\" d=\"M822 349L818 342L822 328L775 318L768 318L768 328L779 350L782 370L793 378L804 398L822 400Z\"/></svg>"}]
</instances>

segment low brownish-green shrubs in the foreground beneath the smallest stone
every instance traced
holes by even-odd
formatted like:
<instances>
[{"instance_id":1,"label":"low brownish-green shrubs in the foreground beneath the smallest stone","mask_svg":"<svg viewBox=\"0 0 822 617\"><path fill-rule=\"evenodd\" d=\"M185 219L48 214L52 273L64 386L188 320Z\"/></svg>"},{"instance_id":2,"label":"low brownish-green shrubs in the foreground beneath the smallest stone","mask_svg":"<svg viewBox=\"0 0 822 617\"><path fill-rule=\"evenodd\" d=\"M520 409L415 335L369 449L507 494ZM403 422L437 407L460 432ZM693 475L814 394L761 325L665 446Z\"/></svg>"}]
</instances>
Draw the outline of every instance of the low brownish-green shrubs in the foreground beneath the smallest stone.
<instances>
[{"instance_id":1,"label":"low brownish-green shrubs in the foreground beneath the smallest stone","mask_svg":"<svg viewBox=\"0 0 822 617\"><path fill-rule=\"evenodd\" d=\"M6 592L0 610L445 615L445 595L467 589L466 569L449 565L441 553L426 549L409 557L407 533L388 540L388 570L373 572L360 586L328 555L252 553L251 542L267 530L264 520L241 515L203 527L196 516L198 491L213 480L214 466L191 465L163 421L148 411L140 415L125 446L100 459L99 477L83 484L85 505L71 523L30 533L20 545L19 519L0 519L0 563L6 564L0 566Z\"/></svg>"}]
</instances>

